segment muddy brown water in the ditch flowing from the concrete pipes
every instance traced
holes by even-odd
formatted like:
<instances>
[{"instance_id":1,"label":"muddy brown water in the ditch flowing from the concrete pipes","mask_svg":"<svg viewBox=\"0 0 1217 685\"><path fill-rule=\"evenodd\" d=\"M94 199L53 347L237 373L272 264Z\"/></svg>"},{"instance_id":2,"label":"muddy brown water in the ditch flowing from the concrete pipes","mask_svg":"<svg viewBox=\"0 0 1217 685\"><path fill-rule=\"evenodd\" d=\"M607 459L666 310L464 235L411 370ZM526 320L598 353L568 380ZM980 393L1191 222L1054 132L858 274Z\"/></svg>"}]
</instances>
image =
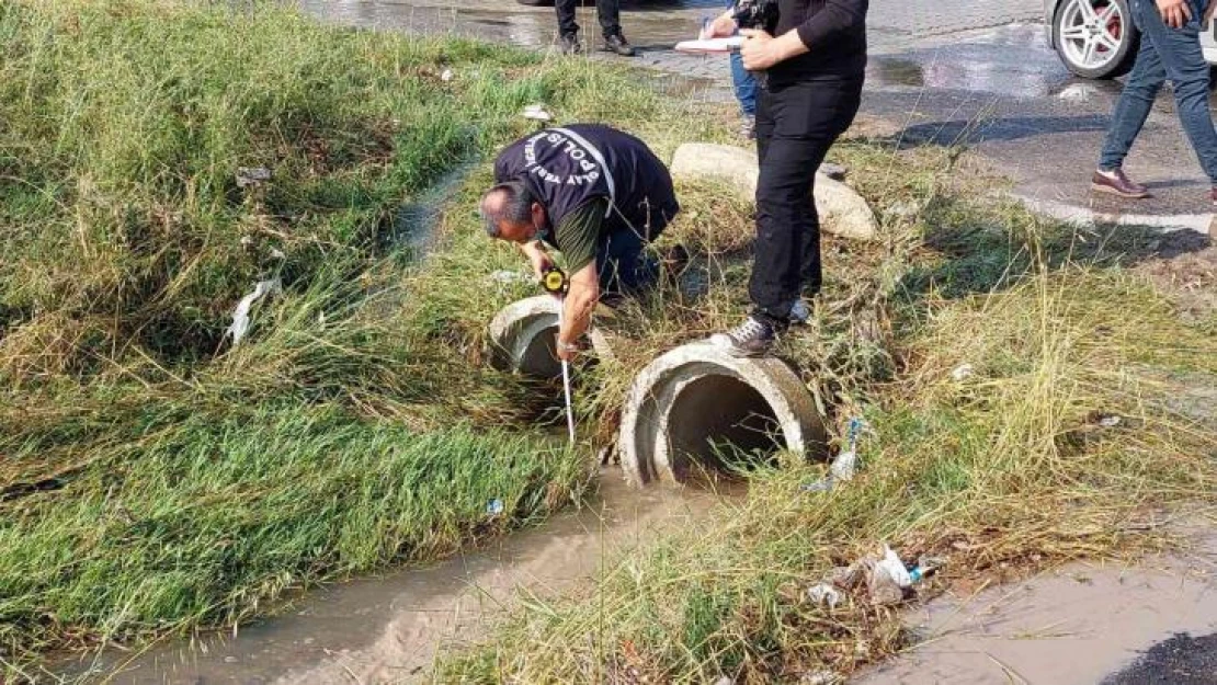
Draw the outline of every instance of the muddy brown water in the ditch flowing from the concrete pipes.
<instances>
[{"instance_id":1,"label":"muddy brown water in the ditch flowing from the concrete pipes","mask_svg":"<svg viewBox=\"0 0 1217 685\"><path fill-rule=\"evenodd\" d=\"M430 568L309 594L236 638L106 659L108 683L411 683L442 645L484 634L516 591L540 596L589 582L639 544L702 520L733 498L701 490L628 488L606 468L598 500L492 548Z\"/></svg>"}]
</instances>

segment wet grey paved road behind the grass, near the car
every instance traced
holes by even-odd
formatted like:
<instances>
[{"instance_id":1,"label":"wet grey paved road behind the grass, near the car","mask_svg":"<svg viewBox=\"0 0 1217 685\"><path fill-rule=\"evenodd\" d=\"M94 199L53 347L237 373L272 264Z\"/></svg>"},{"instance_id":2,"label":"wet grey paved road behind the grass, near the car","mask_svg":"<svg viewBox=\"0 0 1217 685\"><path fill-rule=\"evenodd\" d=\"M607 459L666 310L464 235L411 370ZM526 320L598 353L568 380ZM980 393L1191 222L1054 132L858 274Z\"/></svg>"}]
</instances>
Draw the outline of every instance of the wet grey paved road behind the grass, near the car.
<instances>
[{"instance_id":1,"label":"wet grey paved road behind the grass, near the car","mask_svg":"<svg viewBox=\"0 0 1217 685\"><path fill-rule=\"evenodd\" d=\"M495 43L553 45L553 7L512 0L302 0L329 21ZM679 82L678 97L730 100L727 58L677 54L719 0L627 0L632 60L596 58L654 69L656 85ZM1090 191L1089 180L1120 96L1121 82L1072 77L1038 22L1039 0L871 0L870 64L864 116L882 119L901 146L966 146L1014 181L1034 208L1072 219L1100 218L1207 232L1208 183L1188 145L1165 89L1126 163L1155 197L1127 201ZM583 39L599 45L594 7L579 10ZM690 92L689 85L696 86ZM893 128L894 127L894 128Z\"/></svg>"}]
</instances>

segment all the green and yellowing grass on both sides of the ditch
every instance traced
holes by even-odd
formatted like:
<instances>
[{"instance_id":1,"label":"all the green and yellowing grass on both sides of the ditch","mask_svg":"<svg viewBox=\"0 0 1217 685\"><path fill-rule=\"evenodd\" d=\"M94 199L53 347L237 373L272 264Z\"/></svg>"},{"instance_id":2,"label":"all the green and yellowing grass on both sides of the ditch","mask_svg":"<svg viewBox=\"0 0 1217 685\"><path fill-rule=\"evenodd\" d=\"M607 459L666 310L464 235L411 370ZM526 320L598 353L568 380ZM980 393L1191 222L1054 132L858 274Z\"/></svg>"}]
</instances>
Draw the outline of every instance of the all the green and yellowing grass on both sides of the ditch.
<instances>
[{"instance_id":1,"label":"all the green and yellowing grass on both sides of the ditch","mask_svg":"<svg viewBox=\"0 0 1217 685\"><path fill-rule=\"evenodd\" d=\"M661 157L725 139L725 108L602 63L326 28L270 4L7 2L0 50L6 676L55 648L231 625L581 498L590 450L535 429L549 391L484 363L490 315L534 293L487 279L525 265L478 226L486 164L425 258L398 218L529 130L526 103L616 123ZM823 305L780 352L831 425L871 423L863 475L825 496L798 489L821 466L762 471L712 524L583 596L517 610L439 679L845 674L907 638L888 610L828 612L802 588L879 540L948 554L941 588L1161 544L1129 523L1212 500L1212 417L1178 400L1211 383L1217 349L1123 269L1151 236L976 200L992 180L957 181L970 174L953 153L853 139L834 158L882 235L825 240ZM239 167L273 179L239 187ZM692 248L708 290L664 287L601 321L617 359L576 374L591 447L658 350L746 310L750 207L678 191L663 242ZM908 201L922 209L892 212ZM234 349L230 313L267 277L284 292ZM957 383L964 363L976 375ZM1097 412L1129 421L1099 429Z\"/></svg>"}]
</instances>

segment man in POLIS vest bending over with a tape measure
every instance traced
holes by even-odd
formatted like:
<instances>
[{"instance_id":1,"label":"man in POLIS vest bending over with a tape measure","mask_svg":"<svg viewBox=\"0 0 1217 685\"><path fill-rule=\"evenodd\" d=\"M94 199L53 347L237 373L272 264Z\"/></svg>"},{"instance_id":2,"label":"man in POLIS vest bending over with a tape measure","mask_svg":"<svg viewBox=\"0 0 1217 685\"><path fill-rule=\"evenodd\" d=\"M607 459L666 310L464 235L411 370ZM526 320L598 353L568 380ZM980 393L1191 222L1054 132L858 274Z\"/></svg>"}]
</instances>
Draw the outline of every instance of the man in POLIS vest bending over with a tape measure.
<instances>
[{"instance_id":1,"label":"man in POLIS vest bending over with a tape measure","mask_svg":"<svg viewBox=\"0 0 1217 685\"><path fill-rule=\"evenodd\" d=\"M658 282L658 260L644 249L680 210L672 176L636 137L572 124L509 145L494 180L481 202L486 232L516 243L538 279L553 266L548 248L566 259L557 355L570 360L601 297Z\"/></svg>"}]
</instances>

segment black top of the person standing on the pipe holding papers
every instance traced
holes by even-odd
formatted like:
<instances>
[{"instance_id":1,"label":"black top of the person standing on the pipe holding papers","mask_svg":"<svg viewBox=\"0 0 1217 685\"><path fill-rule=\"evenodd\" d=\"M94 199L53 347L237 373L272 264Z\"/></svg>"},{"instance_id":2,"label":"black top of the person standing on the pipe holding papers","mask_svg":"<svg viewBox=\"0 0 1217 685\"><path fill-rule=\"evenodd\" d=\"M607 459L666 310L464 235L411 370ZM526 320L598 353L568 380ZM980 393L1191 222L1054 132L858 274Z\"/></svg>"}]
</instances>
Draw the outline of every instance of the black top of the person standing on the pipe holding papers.
<instances>
[{"instance_id":1,"label":"black top of the person standing on the pipe holding papers","mask_svg":"<svg viewBox=\"0 0 1217 685\"><path fill-rule=\"evenodd\" d=\"M809 52L769 69L769 83L862 80L867 69L868 0L778 0L774 35L797 30Z\"/></svg>"}]
</instances>

